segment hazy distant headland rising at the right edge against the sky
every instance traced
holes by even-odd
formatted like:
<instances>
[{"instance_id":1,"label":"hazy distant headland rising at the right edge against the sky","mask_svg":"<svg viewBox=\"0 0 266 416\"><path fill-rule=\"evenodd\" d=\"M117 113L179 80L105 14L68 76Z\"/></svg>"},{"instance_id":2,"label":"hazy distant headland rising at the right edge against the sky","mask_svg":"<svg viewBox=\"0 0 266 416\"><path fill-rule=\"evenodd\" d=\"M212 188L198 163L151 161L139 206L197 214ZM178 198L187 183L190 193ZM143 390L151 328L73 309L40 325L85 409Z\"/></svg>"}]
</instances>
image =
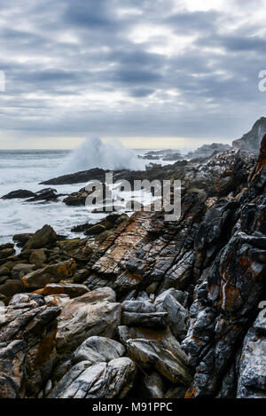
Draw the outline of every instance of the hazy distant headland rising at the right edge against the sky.
<instances>
[{"instance_id":1,"label":"hazy distant headland rising at the right edge against the sky","mask_svg":"<svg viewBox=\"0 0 266 416\"><path fill-rule=\"evenodd\" d=\"M266 134L266 117L261 117L254 123L253 128L238 140L232 142L233 147L258 151L262 137Z\"/></svg>"}]
</instances>

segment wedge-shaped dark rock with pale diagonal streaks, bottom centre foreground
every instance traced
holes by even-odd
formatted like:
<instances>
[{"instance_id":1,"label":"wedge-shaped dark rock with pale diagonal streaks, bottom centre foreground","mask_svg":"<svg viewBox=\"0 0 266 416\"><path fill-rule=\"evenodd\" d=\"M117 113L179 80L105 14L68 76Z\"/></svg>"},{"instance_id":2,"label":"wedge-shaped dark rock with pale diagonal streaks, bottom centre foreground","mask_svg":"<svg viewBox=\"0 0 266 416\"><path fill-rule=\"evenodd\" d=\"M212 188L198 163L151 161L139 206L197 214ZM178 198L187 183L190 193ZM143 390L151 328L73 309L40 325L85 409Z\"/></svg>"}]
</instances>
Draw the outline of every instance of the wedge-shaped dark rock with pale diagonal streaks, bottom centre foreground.
<instances>
[{"instance_id":1,"label":"wedge-shaped dark rock with pale diagonal streaks, bottom centre foreground","mask_svg":"<svg viewBox=\"0 0 266 416\"><path fill-rule=\"evenodd\" d=\"M119 327L129 357L144 369L155 368L169 381L187 386L192 381L188 360L169 330Z\"/></svg>"}]
</instances>

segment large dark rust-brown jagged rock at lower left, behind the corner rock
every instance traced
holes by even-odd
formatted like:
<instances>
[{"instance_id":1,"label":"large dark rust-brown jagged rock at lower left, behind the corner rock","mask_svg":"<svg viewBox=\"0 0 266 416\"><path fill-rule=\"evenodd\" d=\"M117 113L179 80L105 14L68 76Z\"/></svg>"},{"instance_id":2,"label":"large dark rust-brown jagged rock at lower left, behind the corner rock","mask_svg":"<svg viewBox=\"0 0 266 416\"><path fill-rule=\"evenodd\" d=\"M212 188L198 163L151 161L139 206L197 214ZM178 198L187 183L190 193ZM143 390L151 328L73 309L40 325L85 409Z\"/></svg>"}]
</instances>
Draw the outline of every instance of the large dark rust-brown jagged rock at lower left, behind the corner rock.
<instances>
[{"instance_id":1,"label":"large dark rust-brown jagged rock at lower left, behind the corner rock","mask_svg":"<svg viewBox=\"0 0 266 416\"><path fill-rule=\"evenodd\" d=\"M37 294L16 294L9 306L0 312L0 343L20 340L26 344L23 350L26 352L27 397L37 396L49 380L56 358L56 318L59 313L58 307L46 306L43 297ZM10 370L7 368L5 375L12 378L13 370ZM19 382L19 373L17 375Z\"/></svg>"}]
</instances>

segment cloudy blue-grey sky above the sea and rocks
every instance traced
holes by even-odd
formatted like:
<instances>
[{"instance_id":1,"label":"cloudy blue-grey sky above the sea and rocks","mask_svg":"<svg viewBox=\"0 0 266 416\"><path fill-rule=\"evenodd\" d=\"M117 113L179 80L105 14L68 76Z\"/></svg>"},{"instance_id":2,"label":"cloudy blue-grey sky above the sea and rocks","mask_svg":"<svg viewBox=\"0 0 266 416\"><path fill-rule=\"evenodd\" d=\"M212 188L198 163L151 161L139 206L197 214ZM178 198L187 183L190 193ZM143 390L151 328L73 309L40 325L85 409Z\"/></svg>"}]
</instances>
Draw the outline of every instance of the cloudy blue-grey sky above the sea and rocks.
<instances>
[{"instance_id":1,"label":"cloudy blue-grey sky above the sea and rocks","mask_svg":"<svg viewBox=\"0 0 266 416\"><path fill-rule=\"evenodd\" d=\"M266 115L266 0L0 0L0 148L231 143Z\"/></svg>"}]
</instances>

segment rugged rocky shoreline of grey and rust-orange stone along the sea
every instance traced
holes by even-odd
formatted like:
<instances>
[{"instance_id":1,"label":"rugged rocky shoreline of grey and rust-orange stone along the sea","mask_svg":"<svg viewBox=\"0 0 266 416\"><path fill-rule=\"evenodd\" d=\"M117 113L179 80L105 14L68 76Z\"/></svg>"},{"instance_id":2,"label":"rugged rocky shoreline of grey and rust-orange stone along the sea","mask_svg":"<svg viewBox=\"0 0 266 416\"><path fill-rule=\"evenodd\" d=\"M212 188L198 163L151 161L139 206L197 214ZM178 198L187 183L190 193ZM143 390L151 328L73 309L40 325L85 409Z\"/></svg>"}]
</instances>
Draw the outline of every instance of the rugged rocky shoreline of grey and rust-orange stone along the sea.
<instances>
[{"instance_id":1,"label":"rugged rocky shoreline of grey and rust-orange stone along the sea","mask_svg":"<svg viewBox=\"0 0 266 416\"><path fill-rule=\"evenodd\" d=\"M182 179L176 223L142 210L0 246L0 397L265 397L265 152L114 172Z\"/></svg>"}]
</instances>

